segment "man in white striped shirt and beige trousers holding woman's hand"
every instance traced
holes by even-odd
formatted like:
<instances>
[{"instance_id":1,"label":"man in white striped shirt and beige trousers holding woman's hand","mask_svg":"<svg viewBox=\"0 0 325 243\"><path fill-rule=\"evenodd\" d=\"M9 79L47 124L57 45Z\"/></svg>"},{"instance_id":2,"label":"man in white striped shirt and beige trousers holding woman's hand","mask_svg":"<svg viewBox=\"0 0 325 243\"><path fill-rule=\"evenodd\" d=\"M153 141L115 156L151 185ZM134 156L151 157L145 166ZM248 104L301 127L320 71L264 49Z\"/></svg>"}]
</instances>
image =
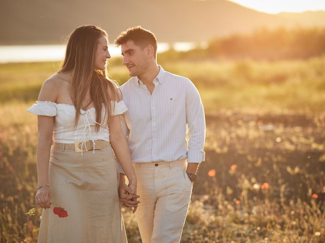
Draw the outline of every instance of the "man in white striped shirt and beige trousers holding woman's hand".
<instances>
[{"instance_id":1,"label":"man in white striped shirt and beige trousers holding woman's hand","mask_svg":"<svg viewBox=\"0 0 325 243\"><path fill-rule=\"evenodd\" d=\"M122 126L137 175L141 238L144 243L179 242L192 183L205 158L202 101L188 78L157 65L157 40L150 31L129 28L115 44L121 46L123 65L132 76L120 87L128 107ZM136 196L130 200L127 191L121 174L121 201L135 207Z\"/></svg>"}]
</instances>

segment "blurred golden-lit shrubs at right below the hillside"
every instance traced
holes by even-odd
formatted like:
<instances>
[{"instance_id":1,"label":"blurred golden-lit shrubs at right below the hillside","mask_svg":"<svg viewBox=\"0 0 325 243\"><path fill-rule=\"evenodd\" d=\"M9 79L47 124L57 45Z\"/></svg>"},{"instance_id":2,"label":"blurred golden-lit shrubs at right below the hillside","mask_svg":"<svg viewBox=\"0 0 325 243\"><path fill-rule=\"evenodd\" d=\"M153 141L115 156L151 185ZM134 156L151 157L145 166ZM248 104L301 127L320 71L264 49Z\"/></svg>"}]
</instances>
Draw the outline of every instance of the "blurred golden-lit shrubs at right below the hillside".
<instances>
[{"instance_id":1,"label":"blurred golden-lit shrubs at right below the hillside","mask_svg":"<svg viewBox=\"0 0 325 243\"><path fill-rule=\"evenodd\" d=\"M325 28L258 29L214 39L206 52L207 56L257 60L315 57L325 53Z\"/></svg>"}]
</instances>

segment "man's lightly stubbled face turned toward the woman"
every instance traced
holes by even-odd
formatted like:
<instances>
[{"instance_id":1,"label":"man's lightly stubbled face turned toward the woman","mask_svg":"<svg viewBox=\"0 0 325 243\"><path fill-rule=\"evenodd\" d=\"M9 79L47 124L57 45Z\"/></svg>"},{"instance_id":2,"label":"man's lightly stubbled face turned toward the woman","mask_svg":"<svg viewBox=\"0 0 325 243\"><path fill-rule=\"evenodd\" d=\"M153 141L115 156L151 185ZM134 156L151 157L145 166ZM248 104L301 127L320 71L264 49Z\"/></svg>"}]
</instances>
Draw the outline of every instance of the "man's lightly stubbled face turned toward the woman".
<instances>
[{"instance_id":1,"label":"man's lightly stubbled face turned toward the woman","mask_svg":"<svg viewBox=\"0 0 325 243\"><path fill-rule=\"evenodd\" d=\"M141 76L148 68L146 48L137 46L133 41L127 41L121 45L123 65L129 71L130 76Z\"/></svg>"}]
</instances>

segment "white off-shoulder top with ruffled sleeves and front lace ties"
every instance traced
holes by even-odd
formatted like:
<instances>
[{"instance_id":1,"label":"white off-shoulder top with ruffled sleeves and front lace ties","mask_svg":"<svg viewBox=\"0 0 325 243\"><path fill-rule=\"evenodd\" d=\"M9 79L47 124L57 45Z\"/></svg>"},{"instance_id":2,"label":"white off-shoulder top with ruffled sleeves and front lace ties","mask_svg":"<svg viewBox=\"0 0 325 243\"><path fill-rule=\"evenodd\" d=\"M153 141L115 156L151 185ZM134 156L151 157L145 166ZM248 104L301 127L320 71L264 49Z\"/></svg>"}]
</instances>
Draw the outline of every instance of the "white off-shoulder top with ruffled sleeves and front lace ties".
<instances>
[{"instance_id":1,"label":"white off-shoulder top with ruffled sleeves and front lace ties","mask_svg":"<svg viewBox=\"0 0 325 243\"><path fill-rule=\"evenodd\" d=\"M111 115L119 115L127 110L124 102L111 101ZM104 123L105 108L102 109L102 121L100 131L95 131L96 113L92 107L87 110L80 109L80 117L77 128L74 128L76 109L74 105L57 104L51 101L36 101L28 112L36 115L54 116L53 141L57 143L75 143L80 141L85 143L88 140L110 141L108 126Z\"/></svg>"}]
</instances>

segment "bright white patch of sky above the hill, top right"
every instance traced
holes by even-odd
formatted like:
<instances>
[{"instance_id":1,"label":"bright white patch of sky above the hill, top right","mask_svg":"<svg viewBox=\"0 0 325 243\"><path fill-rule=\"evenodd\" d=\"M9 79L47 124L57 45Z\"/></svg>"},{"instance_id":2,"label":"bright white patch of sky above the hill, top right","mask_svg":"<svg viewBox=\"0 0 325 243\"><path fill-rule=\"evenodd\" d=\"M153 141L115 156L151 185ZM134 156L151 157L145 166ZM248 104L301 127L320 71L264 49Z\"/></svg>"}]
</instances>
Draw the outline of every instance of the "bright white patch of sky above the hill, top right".
<instances>
[{"instance_id":1,"label":"bright white patch of sky above the hill, top right","mask_svg":"<svg viewBox=\"0 0 325 243\"><path fill-rule=\"evenodd\" d=\"M325 0L229 0L260 12L276 14L280 12L325 11Z\"/></svg>"}]
</instances>

